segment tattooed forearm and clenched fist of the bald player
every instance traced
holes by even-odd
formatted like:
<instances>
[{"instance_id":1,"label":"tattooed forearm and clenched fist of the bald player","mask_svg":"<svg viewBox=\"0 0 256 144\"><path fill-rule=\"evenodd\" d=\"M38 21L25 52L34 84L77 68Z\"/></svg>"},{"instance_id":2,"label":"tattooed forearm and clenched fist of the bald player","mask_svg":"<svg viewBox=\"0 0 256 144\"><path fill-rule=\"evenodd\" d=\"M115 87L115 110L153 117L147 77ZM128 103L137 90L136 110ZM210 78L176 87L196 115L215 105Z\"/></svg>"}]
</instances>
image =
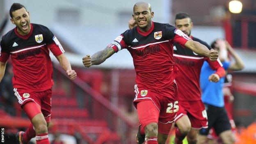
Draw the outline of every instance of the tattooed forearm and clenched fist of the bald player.
<instances>
[{"instance_id":1,"label":"tattooed forearm and clenched fist of the bald player","mask_svg":"<svg viewBox=\"0 0 256 144\"><path fill-rule=\"evenodd\" d=\"M85 67L89 68L92 65L99 65L107 58L109 58L111 55L115 53L113 48L106 47L104 50L98 51L94 55L86 55L85 57L82 58L83 64Z\"/></svg>"}]
</instances>

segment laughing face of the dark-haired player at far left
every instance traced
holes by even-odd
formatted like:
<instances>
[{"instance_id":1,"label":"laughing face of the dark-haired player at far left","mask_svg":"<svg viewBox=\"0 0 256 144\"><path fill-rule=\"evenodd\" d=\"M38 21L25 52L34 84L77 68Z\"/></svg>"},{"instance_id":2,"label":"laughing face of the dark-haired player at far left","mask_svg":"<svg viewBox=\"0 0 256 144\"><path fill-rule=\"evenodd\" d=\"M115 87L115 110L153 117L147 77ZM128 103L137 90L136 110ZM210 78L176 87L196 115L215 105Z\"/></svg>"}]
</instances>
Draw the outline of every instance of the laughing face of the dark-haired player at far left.
<instances>
[{"instance_id":1,"label":"laughing face of the dark-haired player at far left","mask_svg":"<svg viewBox=\"0 0 256 144\"><path fill-rule=\"evenodd\" d=\"M21 35L26 35L30 32L30 15L23 7L12 12L11 23L15 24L18 32Z\"/></svg>"}]
</instances>

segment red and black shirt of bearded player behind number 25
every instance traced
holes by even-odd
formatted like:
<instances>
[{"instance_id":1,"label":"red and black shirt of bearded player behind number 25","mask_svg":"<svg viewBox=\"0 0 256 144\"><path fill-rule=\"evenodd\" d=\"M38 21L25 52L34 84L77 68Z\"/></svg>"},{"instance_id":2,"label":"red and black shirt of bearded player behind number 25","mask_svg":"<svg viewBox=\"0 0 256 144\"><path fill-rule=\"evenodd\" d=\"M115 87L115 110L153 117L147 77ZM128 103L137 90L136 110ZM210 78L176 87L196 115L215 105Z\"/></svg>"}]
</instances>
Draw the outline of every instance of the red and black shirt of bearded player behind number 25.
<instances>
[{"instance_id":1,"label":"red and black shirt of bearded player behind number 25","mask_svg":"<svg viewBox=\"0 0 256 144\"><path fill-rule=\"evenodd\" d=\"M209 50L210 46L200 39L191 37L194 41L205 45ZM213 70L224 69L219 59L215 62L208 57L197 55L192 50L184 48L178 43L174 43L174 62L178 66L176 83L178 85L179 101L198 101L201 100L201 90L199 84L200 72L203 62L207 61ZM220 75L224 76L224 75Z\"/></svg>"}]
</instances>

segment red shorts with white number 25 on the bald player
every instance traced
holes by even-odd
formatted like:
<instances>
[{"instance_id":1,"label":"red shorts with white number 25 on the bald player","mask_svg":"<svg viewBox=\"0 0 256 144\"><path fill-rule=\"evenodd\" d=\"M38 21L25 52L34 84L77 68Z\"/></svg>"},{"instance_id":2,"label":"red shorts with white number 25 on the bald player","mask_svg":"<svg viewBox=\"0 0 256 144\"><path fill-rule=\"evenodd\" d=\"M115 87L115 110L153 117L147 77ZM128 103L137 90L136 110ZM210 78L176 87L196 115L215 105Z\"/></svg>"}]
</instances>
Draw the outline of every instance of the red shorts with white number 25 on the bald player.
<instances>
[{"instance_id":1,"label":"red shorts with white number 25 on the bald player","mask_svg":"<svg viewBox=\"0 0 256 144\"><path fill-rule=\"evenodd\" d=\"M142 127L145 128L147 124L155 122L158 123L158 132L168 135L176 112L179 110L176 83L173 82L164 89L148 89L135 85L135 93L133 104L137 108ZM142 101L150 102L138 104Z\"/></svg>"}]
</instances>

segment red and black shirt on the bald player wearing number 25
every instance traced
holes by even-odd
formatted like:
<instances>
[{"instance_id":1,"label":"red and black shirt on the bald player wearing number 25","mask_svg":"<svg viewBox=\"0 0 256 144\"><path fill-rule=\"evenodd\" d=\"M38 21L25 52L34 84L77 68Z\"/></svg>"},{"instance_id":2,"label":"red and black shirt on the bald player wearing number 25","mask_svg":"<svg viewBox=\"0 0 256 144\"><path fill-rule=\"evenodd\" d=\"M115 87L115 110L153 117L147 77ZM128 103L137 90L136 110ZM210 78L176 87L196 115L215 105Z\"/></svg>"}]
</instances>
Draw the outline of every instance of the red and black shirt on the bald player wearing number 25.
<instances>
[{"instance_id":1,"label":"red and black shirt on the bald player wearing number 25","mask_svg":"<svg viewBox=\"0 0 256 144\"><path fill-rule=\"evenodd\" d=\"M184 46L186 34L169 24L152 22L147 32L138 27L127 30L108 47L116 52L126 48L133 57L136 83L140 87L162 89L173 82L178 71L173 60L173 43Z\"/></svg>"}]
</instances>

